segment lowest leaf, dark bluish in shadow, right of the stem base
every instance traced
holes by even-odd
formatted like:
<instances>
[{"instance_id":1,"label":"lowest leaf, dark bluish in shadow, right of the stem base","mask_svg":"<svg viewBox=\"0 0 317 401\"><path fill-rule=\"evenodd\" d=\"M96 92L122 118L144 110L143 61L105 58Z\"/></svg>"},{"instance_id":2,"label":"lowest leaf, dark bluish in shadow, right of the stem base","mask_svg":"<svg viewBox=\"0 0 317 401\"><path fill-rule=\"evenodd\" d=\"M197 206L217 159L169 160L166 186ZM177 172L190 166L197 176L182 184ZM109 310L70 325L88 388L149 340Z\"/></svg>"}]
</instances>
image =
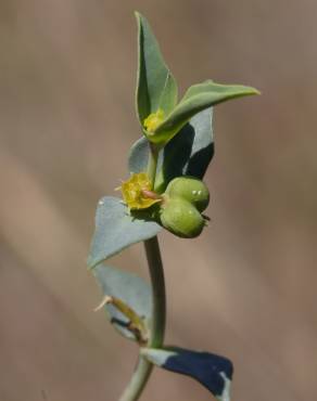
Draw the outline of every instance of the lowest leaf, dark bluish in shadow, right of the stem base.
<instances>
[{"instance_id":1,"label":"lowest leaf, dark bluish in shadow, right of the stem base","mask_svg":"<svg viewBox=\"0 0 317 401\"><path fill-rule=\"evenodd\" d=\"M196 379L217 400L230 400L233 366L227 358L177 347L165 349L143 348L141 354L160 367Z\"/></svg>"}]
</instances>

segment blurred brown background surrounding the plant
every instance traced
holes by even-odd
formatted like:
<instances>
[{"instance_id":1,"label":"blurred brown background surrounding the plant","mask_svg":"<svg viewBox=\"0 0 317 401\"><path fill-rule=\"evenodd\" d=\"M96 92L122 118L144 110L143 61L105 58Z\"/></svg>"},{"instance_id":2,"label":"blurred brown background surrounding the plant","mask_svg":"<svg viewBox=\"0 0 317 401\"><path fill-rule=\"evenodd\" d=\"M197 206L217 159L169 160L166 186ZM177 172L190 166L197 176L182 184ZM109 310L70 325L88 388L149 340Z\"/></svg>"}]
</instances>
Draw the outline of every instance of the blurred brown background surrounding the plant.
<instances>
[{"instance_id":1,"label":"blurred brown background surrounding the plant","mask_svg":"<svg viewBox=\"0 0 317 401\"><path fill-rule=\"evenodd\" d=\"M1 0L0 400L116 401L131 375L86 257L140 135L134 10L181 92L212 78L263 93L216 107L208 230L161 235L166 342L231 358L234 401L314 400L314 0ZM147 277L140 245L114 259ZM155 370L142 400L164 399L211 394Z\"/></svg>"}]
</instances>

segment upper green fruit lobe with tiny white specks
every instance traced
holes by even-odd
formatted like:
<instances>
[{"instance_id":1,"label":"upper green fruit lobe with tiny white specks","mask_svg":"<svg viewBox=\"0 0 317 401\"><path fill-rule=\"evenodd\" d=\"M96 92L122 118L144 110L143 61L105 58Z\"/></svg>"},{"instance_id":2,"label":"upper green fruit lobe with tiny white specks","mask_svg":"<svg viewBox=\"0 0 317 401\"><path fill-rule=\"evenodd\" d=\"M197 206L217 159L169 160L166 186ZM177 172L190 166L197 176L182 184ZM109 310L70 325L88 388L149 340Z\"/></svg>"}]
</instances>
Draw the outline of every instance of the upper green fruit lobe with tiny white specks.
<instances>
[{"instance_id":1,"label":"upper green fruit lobe with tiny white specks","mask_svg":"<svg viewBox=\"0 0 317 401\"><path fill-rule=\"evenodd\" d=\"M192 204L199 211L204 211L210 203L207 186L194 177L177 177L172 180L165 192L170 198L181 197Z\"/></svg>"}]
</instances>

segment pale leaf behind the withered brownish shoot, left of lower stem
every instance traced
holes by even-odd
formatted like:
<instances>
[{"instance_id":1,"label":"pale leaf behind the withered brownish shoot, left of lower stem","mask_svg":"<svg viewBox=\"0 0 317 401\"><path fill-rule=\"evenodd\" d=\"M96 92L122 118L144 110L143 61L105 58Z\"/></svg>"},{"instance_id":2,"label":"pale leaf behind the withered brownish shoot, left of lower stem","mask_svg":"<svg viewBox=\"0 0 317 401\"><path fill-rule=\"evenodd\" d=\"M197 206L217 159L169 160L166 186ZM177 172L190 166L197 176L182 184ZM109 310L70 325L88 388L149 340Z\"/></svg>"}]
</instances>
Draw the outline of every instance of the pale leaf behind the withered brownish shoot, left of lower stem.
<instances>
[{"instance_id":1,"label":"pale leaf behind the withered brownish shoot, left of lower stem","mask_svg":"<svg viewBox=\"0 0 317 401\"><path fill-rule=\"evenodd\" d=\"M99 264L93 269L93 275L101 286L104 296L119 298L127 303L145 326L149 326L152 311L152 297L149 284L136 274L109 266ZM138 340L128 329L129 320L113 305L105 305L106 315L114 327L126 338Z\"/></svg>"}]
</instances>

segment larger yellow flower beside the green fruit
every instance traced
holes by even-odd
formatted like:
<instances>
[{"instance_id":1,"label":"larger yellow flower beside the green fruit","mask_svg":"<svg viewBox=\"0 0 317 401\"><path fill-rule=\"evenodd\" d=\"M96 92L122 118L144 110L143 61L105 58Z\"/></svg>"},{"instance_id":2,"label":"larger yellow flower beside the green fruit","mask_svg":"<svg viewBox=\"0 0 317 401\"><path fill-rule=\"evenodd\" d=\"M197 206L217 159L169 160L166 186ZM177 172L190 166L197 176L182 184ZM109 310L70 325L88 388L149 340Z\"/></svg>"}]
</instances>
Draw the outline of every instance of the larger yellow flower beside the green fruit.
<instances>
[{"instance_id":1,"label":"larger yellow flower beside the green fruit","mask_svg":"<svg viewBox=\"0 0 317 401\"><path fill-rule=\"evenodd\" d=\"M121 190L129 209L147 209L161 202L161 197L151 192L151 181L145 172L132 174L123 182Z\"/></svg>"}]
</instances>

